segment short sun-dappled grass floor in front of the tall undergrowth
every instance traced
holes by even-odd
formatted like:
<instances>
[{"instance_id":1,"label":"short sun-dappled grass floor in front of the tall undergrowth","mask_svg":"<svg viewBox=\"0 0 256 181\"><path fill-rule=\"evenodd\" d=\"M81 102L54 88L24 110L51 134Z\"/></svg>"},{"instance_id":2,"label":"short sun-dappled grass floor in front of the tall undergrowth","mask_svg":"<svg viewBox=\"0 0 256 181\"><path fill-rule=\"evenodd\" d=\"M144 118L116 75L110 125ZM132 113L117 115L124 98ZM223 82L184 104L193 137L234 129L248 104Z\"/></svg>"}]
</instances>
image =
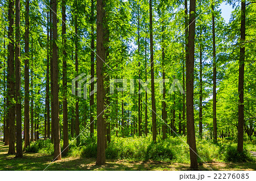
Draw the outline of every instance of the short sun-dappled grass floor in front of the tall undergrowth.
<instances>
[{"instance_id":1,"label":"short sun-dappled grass floor in front of the tall undergrowth","mask_svg":"<svg viewBox=\"0 0 256 181\"><path fill-rule=\"evenodd\" d=\"M42 153L23 152L23 158L8 155L8 146L0 142L0 170L189 170L187 163L163 161L106 160L106 165L97 166L96 159L84 157L63 157L52 162L53 156ZM255 162L246 163L201 163L199 170L256 170Z\"/></svg>"}]
</instances>

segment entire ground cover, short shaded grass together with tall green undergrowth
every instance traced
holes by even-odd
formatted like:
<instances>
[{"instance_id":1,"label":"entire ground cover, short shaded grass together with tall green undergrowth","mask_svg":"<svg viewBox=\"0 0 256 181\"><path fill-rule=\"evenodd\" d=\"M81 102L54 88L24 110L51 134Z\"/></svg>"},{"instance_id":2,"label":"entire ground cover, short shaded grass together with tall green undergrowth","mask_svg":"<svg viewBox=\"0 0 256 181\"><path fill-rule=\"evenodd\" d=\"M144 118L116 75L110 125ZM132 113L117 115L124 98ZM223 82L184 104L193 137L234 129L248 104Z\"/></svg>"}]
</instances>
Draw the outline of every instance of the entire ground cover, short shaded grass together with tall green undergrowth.
<instances>
[{"instance_id":1,"label":"entire ground cover, short shaded grass together with tall green undergrowth","mask_svg":"<svg viewBox=\"0 0 256 181\"><path fill-rule=\"evenodd\" d=\"M169 137L162 141L158 137L154 144L150 136L112 137L106 149L104 166L95 165L95 137L81 137L79 146L76 141L69 141L68 154L61 161L53 163L53 144L50 140L32 142L21 159L7 155L8 146L3 146L1 142L0 170L44 170L50 163L47 170L189 170L188 145L185 144L185 137L181 138ZM253 140L245 140L245 149L254 146ZM232 140L218 140L218 144L214 144L210 140L197 139L197 152L202 158L198 159L199 170L210 170L208 166L213 170L256 170L255 159L248 159L251 158L248 151L245 151L245 155L237 155L236 142Z\"/></svg>"}]
</instances>

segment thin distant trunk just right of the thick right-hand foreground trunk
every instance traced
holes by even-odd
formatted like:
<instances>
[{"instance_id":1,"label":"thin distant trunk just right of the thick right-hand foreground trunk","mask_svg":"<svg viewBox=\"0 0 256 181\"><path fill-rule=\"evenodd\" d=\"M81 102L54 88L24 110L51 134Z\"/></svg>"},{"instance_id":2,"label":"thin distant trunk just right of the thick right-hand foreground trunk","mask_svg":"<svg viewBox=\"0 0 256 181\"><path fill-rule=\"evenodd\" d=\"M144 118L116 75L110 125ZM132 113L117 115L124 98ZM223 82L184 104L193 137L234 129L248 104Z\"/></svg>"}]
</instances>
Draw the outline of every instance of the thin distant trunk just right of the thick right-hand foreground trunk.
<instances>
[{"instance_id":1,"label":"thin distant trunk just right of the thick right-hand foreground trunk","mask_svg":"<svg viewBox=\"0 0 256 181\"><path fill-rule=\"evenodd\" d=\"M199 78L199 136L203 138L203 65L202 45L200 44L200 78Z\"/></svg>"}]
</instances>

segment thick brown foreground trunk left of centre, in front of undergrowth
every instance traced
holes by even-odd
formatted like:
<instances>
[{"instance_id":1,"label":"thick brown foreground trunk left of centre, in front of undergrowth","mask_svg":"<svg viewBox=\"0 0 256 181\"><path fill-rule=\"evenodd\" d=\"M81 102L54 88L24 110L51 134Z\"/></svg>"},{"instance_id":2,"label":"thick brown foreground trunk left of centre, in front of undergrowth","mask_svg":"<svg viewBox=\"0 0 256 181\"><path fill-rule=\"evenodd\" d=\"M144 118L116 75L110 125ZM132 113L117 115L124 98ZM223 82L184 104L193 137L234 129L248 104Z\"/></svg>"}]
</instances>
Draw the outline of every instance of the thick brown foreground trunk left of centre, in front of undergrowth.
<instances>
[{"instance_id":1,"label":"thick brown foreground trunk left of centre, in front of undergrowth","mask_svg":"<svg viewBox=\"0 0 256 181\"><path fill-rule=\"evenodd\" d=\"M106 1L106 0L104 0ZM97 0L97 165L104 165L105 158L105 121L104 121L104 2Z\"/></svg>"}]
</instances>

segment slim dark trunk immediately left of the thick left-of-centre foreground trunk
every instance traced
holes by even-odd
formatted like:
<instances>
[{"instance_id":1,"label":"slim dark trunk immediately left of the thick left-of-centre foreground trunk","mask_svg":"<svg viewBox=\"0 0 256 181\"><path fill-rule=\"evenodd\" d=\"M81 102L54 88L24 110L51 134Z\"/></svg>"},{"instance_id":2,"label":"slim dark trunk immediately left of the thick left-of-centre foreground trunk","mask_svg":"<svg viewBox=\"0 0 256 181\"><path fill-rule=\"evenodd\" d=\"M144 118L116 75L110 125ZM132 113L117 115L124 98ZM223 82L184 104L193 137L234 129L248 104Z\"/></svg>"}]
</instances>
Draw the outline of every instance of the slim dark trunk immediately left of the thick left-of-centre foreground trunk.
<instances>
[{"instance_id":1,"label":"slim dark trunk immediately left of the thick left-of-centre foreground trunk","mask_svg":"<svg viewBox=\"0 0 256 181\"><path fill-rule=\"evenodd\" d=\"M94 78L94 0L90 6L91 27L90 27L90 75ZM90 83L90 91L94 91L94 82ZM90 137L94 136L94 94L90 95Z\"/></svg>"}]
</instances>

